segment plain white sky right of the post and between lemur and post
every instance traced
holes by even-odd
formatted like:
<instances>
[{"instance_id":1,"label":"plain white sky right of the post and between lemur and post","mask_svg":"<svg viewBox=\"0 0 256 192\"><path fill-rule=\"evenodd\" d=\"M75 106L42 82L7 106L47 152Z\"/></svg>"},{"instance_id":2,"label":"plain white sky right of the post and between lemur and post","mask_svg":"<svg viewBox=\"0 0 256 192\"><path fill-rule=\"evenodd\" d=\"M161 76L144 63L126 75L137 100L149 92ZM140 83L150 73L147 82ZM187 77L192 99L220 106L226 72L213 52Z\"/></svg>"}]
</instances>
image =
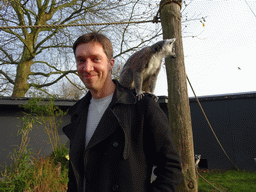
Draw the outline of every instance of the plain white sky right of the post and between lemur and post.
<instances>
[{"instance_id":1,"label":"plain white sky right of the post and between lemur and post","mask_svg":"<svg viewBox=\"0 0 256 192\"><path fill-rule=\"evenodd\" d=\"M255 92L256 0L194 0L186 12L207 17L205 27L191 22L183 34L186 73L197 96ZM168 95L164 68L155 94Z\"/></svg>"}]
</instances>

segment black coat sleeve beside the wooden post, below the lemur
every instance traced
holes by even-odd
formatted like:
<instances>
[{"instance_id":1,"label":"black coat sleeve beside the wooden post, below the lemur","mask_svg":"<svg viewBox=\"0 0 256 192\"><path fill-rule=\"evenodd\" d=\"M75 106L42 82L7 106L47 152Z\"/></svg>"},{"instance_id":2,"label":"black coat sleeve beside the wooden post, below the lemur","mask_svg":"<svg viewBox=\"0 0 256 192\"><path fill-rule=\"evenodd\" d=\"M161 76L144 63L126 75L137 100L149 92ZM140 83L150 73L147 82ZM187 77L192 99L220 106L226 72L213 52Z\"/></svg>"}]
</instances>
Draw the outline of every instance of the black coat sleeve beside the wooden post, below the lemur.
<instances>
[{"instance_id":1,"label":"black coat sleeve beside the wooden post, below the lemur","mask_svg":"<svg viewBox=\"0 0 256 192\"><path fill-rule=\"evenodd\" d=\"M143 101L145 112L144 130L152 143L149 149L156 166L154 174L157 176L152 182L153 192L176 191L176 186L181 178L180 158L172 141L171 128L169 121L159 107L158 103L152 98L145 97ZM154 142L152 142L152 140ZM148 142L149 143L149 142ZM148 151L149 151L148 150Z\"/></svg>"}]
</instances>

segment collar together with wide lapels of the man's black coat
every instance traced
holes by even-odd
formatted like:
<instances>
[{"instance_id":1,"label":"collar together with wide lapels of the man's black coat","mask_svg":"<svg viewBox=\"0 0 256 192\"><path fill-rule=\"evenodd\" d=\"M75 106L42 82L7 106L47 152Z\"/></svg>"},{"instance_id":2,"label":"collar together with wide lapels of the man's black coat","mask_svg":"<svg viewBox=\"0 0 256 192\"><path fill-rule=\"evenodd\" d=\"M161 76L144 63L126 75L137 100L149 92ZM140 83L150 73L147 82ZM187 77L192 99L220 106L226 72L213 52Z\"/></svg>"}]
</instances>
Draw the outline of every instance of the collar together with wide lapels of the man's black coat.
<instances>
[{"instance_id":1,"label":"collar together with wide lapels of the man's black coat","mask_svg":"<svg viewBox=\"0 0 256 192\"><path fill-rule=\"evenodd\" d=\"M86 150L94 146L95 144L99 143L100 141L104 140L108 135L111 135L115 129L120 125L125 133L125 150L124 150L124 159L128 158L129 156L129 138L128 136L130 131L130 113L123 114L122 111L116 110L116 105L119 103L127 104L129 107L131 105L136 103L136 97L134 94L122 87L118 81L114 80L114 83L116 84L116 90L113 95L113 99L110 103L110 107L107 108L105 111L104 116L102 117L101 121L99 122L99 125L97 129L95 130L95 133L93 134L90 142L88 143L88 146L86 147ZM72 117L75 117L75 119L82 121L80 122L80 125L83 126L75 126L72 127L71 124L69 124L69 127L64 127L63 131L68 136L69 139L72 139L77 144L74 144L76 146L76 149L72 150L72 154L70 156L75 156L79 151L83 150L84 144L84 125L86 124L86 115L88 112L88 106L90 104L91 100L91 93L88 92L84 98L79 100L69 111L69 114ZM81 116L80 118L78 118ZM70 127L71 126L71 127ZM78 147L80 146L80 147Z\"/></svg>"}]
</instances>

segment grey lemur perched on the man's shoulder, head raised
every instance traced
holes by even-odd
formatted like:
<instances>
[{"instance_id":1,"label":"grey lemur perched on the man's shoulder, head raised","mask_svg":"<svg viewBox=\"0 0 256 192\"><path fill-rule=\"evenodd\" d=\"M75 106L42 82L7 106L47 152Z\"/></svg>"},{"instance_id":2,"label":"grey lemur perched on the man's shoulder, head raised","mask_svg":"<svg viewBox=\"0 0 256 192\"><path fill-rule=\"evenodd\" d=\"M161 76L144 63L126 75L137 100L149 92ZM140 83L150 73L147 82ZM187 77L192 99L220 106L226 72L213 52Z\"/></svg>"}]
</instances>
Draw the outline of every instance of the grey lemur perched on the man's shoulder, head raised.
<instances>
[{"instance_id":1,"label":"grey lemur perched on the man's shoulder, head raised","mask_svg":"<svg viewBox=\"0 0 256 192\"><path fill-rule=\"evenodd\" d=\"M144 92L153 94L162 59L175 57L174 42L176 38L159 41L149 47L135 52L125 63L120 74L120 83L128 89L134 89L138 100ZM157 97L154 96L157 101Z\"/></svg>"}]
</instances>

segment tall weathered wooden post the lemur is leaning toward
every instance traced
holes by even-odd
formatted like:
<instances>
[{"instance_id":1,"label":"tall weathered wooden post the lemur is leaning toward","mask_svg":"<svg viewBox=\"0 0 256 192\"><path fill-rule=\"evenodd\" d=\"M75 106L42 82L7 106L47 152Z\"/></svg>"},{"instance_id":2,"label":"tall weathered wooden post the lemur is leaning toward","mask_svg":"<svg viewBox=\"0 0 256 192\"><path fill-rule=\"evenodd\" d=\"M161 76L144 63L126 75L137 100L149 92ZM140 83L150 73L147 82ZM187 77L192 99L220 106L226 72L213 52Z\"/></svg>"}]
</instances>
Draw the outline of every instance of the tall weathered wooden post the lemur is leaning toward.
<instances>
[{"instance_id":1,"label":"tall weathered wooden post the lemur is leaning toward","mask_svg":"<svg viewBox=\"0 0 256 192\"><path fill-rule=\"evenodd\" d=\"M181 0L162 0L163 38L176 38L176 58L166 58L168 110L173 140L181 157L182 181L178 191L198 191L189 98L181 36Z\"/></svg>"}]
</instances>

